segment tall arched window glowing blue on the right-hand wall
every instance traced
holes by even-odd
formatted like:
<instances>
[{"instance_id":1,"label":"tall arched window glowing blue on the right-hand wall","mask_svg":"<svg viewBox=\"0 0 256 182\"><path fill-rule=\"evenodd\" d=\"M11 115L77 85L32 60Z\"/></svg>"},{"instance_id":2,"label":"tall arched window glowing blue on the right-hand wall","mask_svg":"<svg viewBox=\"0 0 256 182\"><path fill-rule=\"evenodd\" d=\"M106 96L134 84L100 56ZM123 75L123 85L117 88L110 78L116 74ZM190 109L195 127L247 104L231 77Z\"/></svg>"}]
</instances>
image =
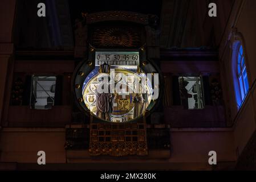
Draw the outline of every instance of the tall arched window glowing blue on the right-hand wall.
<instances>
[{"instance_id":1,"label":"tall arched window glowing blue on the right-hand wall","mask_svg":"<svg viewBox=\"0 0 256 182\"><path fill-rule=\"evenodd\" d=\"M235 96L238 107L241 107L249 91L249 82L245 65L245 51L241 42L236 42L233 49L233 67Z\"/></svg>"}]
</instances>

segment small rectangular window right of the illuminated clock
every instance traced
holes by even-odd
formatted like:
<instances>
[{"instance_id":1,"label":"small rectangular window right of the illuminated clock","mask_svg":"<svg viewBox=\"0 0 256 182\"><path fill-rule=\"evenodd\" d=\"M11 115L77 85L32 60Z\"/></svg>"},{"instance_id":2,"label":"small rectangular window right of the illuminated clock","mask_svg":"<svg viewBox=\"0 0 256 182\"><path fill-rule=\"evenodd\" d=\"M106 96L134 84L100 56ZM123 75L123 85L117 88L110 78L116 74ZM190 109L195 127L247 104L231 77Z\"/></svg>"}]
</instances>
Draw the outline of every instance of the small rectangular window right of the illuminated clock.
<instances>
[{"instance_id":1,"label":"small rectangular window right of the illuminated clock","mask_svg":"<svg viewBox=\"0 0 256 182\"><path fill-rule=\"evenodd\" d=\"M181 104L185 109L204 109L201 77L179 77Z\"/></svg>"}]
</instances>

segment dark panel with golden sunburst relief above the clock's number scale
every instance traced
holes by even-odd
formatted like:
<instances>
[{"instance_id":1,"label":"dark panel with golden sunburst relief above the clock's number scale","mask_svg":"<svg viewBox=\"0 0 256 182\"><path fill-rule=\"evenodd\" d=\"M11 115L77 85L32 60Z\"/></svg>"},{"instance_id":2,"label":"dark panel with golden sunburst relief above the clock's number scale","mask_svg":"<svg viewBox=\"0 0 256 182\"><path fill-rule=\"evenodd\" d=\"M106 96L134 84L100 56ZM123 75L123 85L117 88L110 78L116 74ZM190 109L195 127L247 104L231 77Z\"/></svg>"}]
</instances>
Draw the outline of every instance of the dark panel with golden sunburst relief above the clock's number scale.
<instances>
[{"instance_id":1,"label":"dark panel with golden sunburst relief above the clock's number scale","mask_svg":"<svg viewBox=\"0 0 256 182\"><path fill-rule=\"evenodd\" d=\"M136 32L124 28L96 29L92 43L100 47L137 47L140 37Z\"/></svg>"}]
</instances>

